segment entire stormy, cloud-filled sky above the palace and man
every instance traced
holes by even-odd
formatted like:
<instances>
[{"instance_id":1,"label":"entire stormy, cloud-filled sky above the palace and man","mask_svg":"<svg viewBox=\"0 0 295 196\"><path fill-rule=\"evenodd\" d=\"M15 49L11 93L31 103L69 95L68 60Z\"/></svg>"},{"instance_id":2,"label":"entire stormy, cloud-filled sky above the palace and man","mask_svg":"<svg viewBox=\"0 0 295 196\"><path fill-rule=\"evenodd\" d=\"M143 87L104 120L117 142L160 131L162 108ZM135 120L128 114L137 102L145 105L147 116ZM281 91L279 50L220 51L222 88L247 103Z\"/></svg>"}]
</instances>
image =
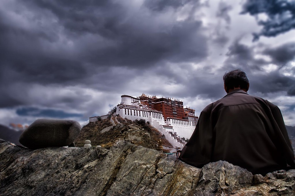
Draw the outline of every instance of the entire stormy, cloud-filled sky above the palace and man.
<instances>
[{"instance_id":1,"label":"entire stormy, cloud-filled sky above the palace and man","mask_svg":"<svg viewBox=\"0 0 295 196\"><path fill-rule=\"evenodd\" d=\"M0 124L85 124L142 93L199 115L237 68L295 126L294 1L1 0Z\"/></svg>"}]
</instances>

